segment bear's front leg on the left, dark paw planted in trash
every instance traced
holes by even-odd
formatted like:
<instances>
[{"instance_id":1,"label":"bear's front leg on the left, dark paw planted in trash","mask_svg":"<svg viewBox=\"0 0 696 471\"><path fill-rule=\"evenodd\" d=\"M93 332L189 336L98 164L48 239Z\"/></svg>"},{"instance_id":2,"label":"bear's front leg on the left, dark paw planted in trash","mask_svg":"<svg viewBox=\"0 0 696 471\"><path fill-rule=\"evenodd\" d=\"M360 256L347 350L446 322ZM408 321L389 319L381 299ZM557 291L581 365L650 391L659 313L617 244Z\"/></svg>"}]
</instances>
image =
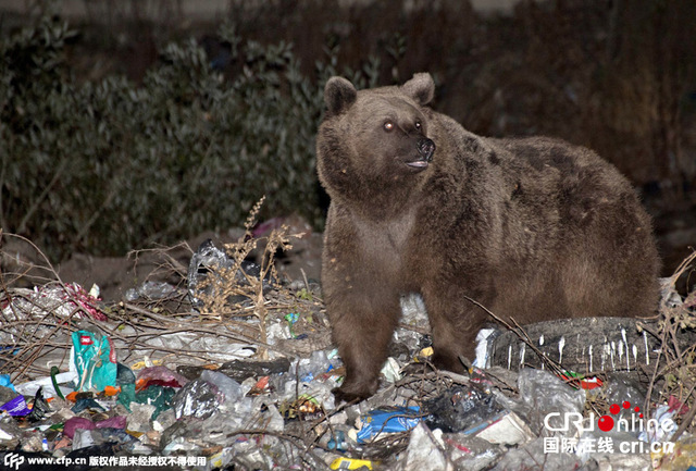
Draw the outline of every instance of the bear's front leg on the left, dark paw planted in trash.
<instances>
[{"instance_id":1,"label":"bear's front leg on the left, dark paw planted in trash","mask_svg":"<svg viewBox=\"0 0 696 471\"><path fill-rule=\"evenodd\" d=\"M380 371L387 358L400 307L396 293L368 287L344 286L325 293L334 344L346 367L337 400L362 400L377 392Z\"/></svg>"}]
</instances>

